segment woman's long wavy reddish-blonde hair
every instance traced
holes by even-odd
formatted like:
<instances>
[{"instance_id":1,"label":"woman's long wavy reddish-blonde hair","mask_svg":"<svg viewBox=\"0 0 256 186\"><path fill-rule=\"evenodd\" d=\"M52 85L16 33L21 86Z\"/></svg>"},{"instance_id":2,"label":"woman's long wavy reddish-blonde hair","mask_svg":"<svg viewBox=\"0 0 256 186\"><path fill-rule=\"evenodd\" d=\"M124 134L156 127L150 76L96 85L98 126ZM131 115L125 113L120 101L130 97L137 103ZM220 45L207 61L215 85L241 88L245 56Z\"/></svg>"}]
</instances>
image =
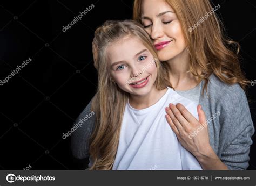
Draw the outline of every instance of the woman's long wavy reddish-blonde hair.
<instances>
[{"instance_id":1,"label":"woman's long wavy reddish-blonde hair","mask_svg":"<svg viewBox=\"0 0 256 186\"><path fill-rule=\"evenodd\" d=\"M133 4L133 19L139 23L141 23L142 2L143 0L134 0ZM239 44L224 37L223 25L213 12L210 1L165 0L165 2L171 6L181 23L190 54L191 73L199 77L199 80L206 80L203 91L205 88L207 90L212 73L227 84L239 83L245 89L248 80L240 68L237 56ZM214 10L218 8L220 5ZM200 19L206 14L207 20L200 23ZM198 22L200 24L194 30L190 29ZM203 73L199 74L198 69L201 69Z\"/></svg>"}]
</instances>

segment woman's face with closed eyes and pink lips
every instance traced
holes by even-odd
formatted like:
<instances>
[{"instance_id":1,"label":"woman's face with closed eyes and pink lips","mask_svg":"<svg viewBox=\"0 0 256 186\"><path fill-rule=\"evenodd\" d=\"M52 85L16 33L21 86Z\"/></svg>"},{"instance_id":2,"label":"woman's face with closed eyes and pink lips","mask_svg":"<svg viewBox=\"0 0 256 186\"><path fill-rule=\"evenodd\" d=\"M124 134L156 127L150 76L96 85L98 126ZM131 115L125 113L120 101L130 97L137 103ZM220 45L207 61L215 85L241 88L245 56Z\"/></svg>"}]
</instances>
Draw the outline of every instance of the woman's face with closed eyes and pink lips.
<instances>
[{"instance_id":1,"label":"woman's face with closed eyes and pink lips","mask_svg":"<svg viewBox=\"0 0 256 186\"><path fill-rule=\"evenodd\" d=\"M186 43L180 22L164 0L143 0L141 18L160 61L173 59L185 50Z\"/></svg>"}]
</instances>

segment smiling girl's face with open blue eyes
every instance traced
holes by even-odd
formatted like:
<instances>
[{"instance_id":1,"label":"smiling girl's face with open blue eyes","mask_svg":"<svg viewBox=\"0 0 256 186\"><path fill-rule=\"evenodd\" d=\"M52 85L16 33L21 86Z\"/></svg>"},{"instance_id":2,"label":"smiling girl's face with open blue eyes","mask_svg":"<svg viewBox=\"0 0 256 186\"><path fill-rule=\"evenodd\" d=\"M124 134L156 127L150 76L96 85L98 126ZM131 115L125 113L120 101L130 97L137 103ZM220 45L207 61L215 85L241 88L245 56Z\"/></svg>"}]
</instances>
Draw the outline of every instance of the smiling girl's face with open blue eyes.
<instances>
[{"instance_id":1,"label":"smiling girl's face with open blue eyes","mask_svg":"<svg viewBox=\"0 0 256 186\"><path fill-rule=\"evenodd\" d=\"M149 94L157 78L153 55L136 37L126 37L106 49L107 68L118 87L132 95Z\"/></svg>"}]
</instances>

